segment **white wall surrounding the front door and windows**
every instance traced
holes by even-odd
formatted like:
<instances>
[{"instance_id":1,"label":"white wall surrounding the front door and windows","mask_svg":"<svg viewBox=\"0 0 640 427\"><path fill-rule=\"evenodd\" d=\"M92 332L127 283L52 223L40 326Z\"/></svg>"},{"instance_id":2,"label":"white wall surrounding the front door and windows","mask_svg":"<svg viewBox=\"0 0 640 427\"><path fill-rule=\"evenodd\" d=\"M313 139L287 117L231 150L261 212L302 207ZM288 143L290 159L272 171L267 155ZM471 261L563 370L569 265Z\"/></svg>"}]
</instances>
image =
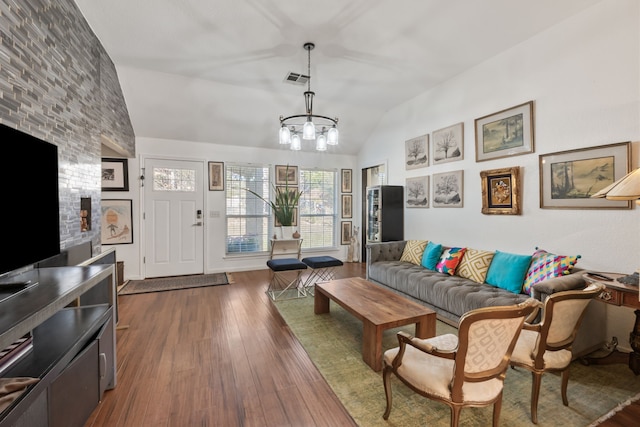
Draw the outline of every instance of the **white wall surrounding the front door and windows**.
<instances>
[{"instance_id":1,"label":"white wall surrounding the front door and windows","mask_svg":"<svg viewBox=\"0 0 640 427\"><path fill-rule=\"evenodd\" d=\"M118 261L124 261L125 279L144 278L144 266L141 259L144 247L141 245L141 189L139 177L142 174L141 161L143 158L156 157L167 159L188 159L209 161L223 161L228 163L253 163L270 165L297 165L302 168L335 169L338 172L340 184L340 169L354 169L355 156L339 156L332 154L316 154L313 152L291 151L287 149L250 149L230 145L207 144L189 141L163 140L153 138L136 139L135 159L129 159L129 187L128 193L118 193L117 198L133 199L134 230L133 244L117 245ZM205 175L208 172L205 171ZM358 176L354 174L353 188L357 189ZM104 195L103 195L104 196ZM205 230L205 273L233 272L264 269L267 258L265 256L226 256L225 255L225 192L208 191L205 189L204 230ZM109 197L113 198L113 197ZM337 200L339 205L339 199ZM359 218L354 206L354 220ZM218 218L210 218L211 211L220 212ZM358 211L359 212L359 211ZM339 235L337 236L339 239ZM339 240L337 241L339 243ZM316 255L331 255L339 259L346 258L346 246L338 245L338 249L320 252Z\"/></svg>"}]
</instances>

